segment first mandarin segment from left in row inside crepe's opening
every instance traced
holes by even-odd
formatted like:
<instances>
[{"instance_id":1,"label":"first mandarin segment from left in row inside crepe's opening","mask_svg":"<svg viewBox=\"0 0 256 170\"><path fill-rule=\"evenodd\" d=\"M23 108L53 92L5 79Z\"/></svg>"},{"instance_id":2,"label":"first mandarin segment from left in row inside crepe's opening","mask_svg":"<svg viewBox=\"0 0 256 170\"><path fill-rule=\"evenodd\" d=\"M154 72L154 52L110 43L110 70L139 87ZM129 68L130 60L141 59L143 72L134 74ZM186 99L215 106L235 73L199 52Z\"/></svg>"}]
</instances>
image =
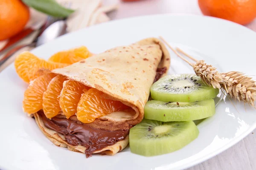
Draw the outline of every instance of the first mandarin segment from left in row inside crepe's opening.
<instances>
[{"instance_id":1,"label":"first mandarin segment from left in row inside crepe's opening","mask_svg":"<svg viewBox=\"0 0 256 170\"><path fill-rule=\"evenodd\" d=\"M55 77L53 73L44 74L29 84L29 87L24 93L23 111L26 113L36 113L40 111L43 106L43 94L51 79Z\"/></svg>"}]
</instances>

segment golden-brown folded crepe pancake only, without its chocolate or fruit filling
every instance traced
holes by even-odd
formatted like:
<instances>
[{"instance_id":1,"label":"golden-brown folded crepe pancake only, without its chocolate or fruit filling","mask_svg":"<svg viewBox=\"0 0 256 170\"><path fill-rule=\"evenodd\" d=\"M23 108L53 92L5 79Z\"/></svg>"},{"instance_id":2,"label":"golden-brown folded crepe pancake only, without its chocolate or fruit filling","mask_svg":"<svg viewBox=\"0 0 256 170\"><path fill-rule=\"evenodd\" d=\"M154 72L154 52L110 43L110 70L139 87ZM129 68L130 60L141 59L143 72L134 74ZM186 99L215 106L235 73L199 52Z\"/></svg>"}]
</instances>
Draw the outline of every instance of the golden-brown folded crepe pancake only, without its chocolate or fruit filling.
<instances>
[{"instance_id":1,"label":"golden-brown folded crepe pancake only, without its chocolate or fruit filling","mask_svg":"<svg viewBox=\"0 0 256 170\"><path fill-rule=\"evenodd\" d=\"M170 65L170 56L165 45L156 38L147 38L128 46L119 46L101 54L89 57L65 68L52 72L61 74L67 79L80 82L91 88L104 92L104 97L117 100L131 107L127 111L110 113L87 123L89 127L101 130L129 130L140 123L144 117L144 106L148 101L150 87L154 82L157 70L165 68L164 76ZM65 119L58 115L61 119ZM65 140L65 136L44 126L41 116L35 113L38 127L54 144L68 147L69 150L83 152L84 146L74 146ZM70 120L78 124L76 116ZM128 136L115 144L93 153L113 155L128 144Z\"/></svg>"}]
</instances>

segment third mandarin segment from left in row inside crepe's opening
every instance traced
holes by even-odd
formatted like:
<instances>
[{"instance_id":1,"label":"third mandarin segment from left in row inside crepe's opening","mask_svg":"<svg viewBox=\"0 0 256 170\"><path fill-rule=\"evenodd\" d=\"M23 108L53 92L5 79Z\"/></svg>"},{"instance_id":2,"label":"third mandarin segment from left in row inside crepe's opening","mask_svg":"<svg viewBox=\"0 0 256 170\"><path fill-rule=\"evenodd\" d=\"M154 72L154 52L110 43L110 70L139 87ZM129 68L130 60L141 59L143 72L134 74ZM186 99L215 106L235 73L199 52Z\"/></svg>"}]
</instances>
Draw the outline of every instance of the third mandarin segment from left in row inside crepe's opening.
<instances>
[{"instance_id":1,"label":"third mandarin segment from left in row inside crepe's opening","mask_svg":"<svg viewBox=\"0 0 256 170\"><path fill-rule=\"evenodd\" d=\"M83 89L88 90L89 87L73 80L64 82L59 104L67 119L76 114L77 105L81 95L84 93Z\"/></svg>"}]
</instances>

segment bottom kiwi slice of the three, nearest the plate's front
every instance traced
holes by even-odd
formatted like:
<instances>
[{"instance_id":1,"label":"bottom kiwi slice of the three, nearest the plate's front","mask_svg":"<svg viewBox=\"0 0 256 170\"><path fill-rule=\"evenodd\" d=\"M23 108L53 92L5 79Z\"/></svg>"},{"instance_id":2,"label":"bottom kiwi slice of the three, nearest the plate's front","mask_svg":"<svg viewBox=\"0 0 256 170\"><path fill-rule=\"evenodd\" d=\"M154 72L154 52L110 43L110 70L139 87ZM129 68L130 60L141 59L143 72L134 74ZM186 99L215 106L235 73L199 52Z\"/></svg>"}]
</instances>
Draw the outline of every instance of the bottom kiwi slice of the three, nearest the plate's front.
<instances>
[{"instance_id":1,"label":"bottom kiwi slice of the three, nearest the plate's front","mask_svg":"<svg viewBox=\"0 0 256 170\"><path fill-rule=\"evenodd\" d=\"M156 156L171 153L186 146L198 137L199 130L193 121L160 122L143 119L130 129L132 153Z\"/></svg>"}]
</instances>

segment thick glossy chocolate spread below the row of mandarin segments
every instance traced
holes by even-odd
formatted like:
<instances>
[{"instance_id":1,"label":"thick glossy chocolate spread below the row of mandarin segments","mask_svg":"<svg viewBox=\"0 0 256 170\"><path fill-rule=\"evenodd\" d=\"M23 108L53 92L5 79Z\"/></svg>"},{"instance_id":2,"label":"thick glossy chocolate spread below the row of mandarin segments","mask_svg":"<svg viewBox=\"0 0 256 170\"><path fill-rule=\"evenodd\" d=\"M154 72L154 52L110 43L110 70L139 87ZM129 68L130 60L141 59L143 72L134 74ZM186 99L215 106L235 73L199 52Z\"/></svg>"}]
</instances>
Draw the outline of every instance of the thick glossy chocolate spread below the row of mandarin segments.
<instances>
[{"instance_id":1,"label":"thick glossy chocolate spread below the row of mandarin segments","mask_svg":"<svg viewBox=\"0 0 256 170\"><path fill-rule=\"evenodd\" d=\"M92 153L97 150L102 150L125 139L129 134L129 130L107 131L94 129L70 119L56 117L48 119L43 111L39 111L38 114L41 116L45 127L64 135L67 143L73 146L82 145L86 147L86 157L92 156Z\"/></svg>"}]
</instances>

